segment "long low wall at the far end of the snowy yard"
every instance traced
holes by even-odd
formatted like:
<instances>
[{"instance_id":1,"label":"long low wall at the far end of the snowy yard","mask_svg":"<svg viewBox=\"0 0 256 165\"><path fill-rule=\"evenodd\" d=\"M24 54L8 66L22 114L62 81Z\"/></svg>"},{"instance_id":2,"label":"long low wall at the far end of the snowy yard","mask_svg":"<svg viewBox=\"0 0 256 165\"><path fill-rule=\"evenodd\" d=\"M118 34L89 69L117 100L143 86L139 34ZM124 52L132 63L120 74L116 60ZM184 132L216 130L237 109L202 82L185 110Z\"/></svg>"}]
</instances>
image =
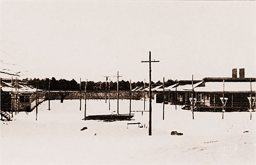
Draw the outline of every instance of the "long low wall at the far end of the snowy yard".
<instances>
[{"instance_id":1,"label":"long low wall at the far end of the snowy yard","mask_svg":"<svg viewBox=\"0 0 256 165\"><path fill-rule=\"evenodd\" d=\"M87 99L117 99L117 91L110 92L98 92L98 91L88 91L86 93ZM147 95L147 93L146 93ZM49 93L46 91L46 99L49 99ZM65 100L70 99L80 99L80 91L50 91L50 100L60 100L61 97ZM144 97L143 91L132 91L132 100L140 100ZM81 98L84 99L84 91L81 92ZM119 99L130 99L130 91L119 91Z\"/></svg>"}]
</instances>

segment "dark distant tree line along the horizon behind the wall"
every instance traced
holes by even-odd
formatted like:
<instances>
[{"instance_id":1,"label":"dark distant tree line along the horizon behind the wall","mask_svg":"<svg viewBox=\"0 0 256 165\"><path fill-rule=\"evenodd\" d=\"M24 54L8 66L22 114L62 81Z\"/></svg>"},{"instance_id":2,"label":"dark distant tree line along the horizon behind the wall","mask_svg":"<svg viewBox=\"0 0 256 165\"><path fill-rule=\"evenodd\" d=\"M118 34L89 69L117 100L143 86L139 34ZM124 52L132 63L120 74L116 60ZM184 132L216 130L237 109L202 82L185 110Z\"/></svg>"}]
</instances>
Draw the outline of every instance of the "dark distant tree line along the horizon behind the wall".
<instances>
[{"instance_id":1,"label":"dark distant tree line along the horizon behind the wall","mask_svg":"<svg viewBox=\"0 0 256 165\"><path fill-rule=\"evenodd\" d=\"M34 87L38 87L38 89L42 89L42 90L48 90L49 88L49 78L46 79L23 79L23 81L27 82L29 85L32 85ZM176 83L177 80L172 80L169 79L165 82L166 86L169 85L173 85ZM81 82L81 90L84 90L86 82L82 81ZM152 81L152 86L155 87L157 85L161 85L162 82L158 81L156 83L154 83ZM119 81L119 90L130 90L130 81L124 81L121 80ZM143 87L144 83L143 81L138 81L138 82L133 82L132 83L132 89L136 88L136 87ZM148 83L145 83L145 86L148 87ZM87 90L90 91L105 91L105 89L108 90L109 87L109 82L106 83L105 82L94 82L94 81L88 81L87 83ZM54 77L51 79L50 82L50 90L80 90L80 84L78 82L76 82L74 79L72 80L65 80L65 79L60 79L60 80L56 80ZM117 90L117 82L113 82L110 81L110 90Z\"/></svg>"}]
</instances>

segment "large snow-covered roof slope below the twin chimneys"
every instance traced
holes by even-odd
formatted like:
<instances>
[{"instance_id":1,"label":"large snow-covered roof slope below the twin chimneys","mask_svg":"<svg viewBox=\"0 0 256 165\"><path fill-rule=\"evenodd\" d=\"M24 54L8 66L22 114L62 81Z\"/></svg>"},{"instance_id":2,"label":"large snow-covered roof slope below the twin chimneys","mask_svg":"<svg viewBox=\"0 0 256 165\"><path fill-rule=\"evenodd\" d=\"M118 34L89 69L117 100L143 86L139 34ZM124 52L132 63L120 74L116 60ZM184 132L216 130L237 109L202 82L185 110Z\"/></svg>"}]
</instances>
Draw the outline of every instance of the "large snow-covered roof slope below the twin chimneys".
<instances>
[{"instance_id":1,"label":"large snow-covered roof slope below the twin chimneys","mask_svg":"<svg viewBox=\"0 0 256 165\"><path fill-rule=\"evenodd\" d=\"M255 82L251 82L255 91ZM205 82L205 86L195 87L195 91L223 91L223 82ZM224 82L224 91L250 91L250 82Z\"/></svg>"}]
</instances>

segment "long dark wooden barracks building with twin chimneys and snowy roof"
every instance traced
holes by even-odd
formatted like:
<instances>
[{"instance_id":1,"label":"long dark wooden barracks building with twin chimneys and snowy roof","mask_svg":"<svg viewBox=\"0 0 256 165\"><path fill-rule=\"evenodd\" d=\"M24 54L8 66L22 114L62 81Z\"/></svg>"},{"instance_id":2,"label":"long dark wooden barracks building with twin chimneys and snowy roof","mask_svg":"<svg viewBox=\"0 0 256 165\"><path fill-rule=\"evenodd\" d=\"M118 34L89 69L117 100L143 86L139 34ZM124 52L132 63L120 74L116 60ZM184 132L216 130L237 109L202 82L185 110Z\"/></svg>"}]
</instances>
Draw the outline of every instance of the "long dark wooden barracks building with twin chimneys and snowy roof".
<instances>
[{"instance_id":1,"label":"long dark wooden barracks building with twin chimneys and snowy roof","mask_svg":"<svg viewBox=\"0 0 256 165\"><path fill-rule=\"evenodd\" d=\"M181 80L177 84L164 87L164 100L170 104L191 106L192 92L196 111L247 111L255 109L255 78L245 78L244 68L232 70L232 78L204 78L203 80ZM194 88L194 90L193 90ZM163 102L163 88L155 87L156 102ZM223 99L224 94L224 99Z\"/></svg>"}]
</instances>

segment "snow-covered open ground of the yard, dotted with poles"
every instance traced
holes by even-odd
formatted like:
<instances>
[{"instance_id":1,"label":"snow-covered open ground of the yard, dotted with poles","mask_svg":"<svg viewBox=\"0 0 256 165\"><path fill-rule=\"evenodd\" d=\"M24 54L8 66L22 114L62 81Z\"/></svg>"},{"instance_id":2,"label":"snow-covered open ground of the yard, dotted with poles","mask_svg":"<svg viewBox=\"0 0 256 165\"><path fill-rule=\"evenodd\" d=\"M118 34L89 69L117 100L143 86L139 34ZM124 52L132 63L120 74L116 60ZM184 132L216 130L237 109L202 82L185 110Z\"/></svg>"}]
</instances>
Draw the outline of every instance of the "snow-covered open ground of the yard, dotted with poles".
<instances>
[{"instance_id":1,"label":"snow-covered open ground of the yard, dotted with poles","mask_svg":"<svg viewBox=\"0 0 256 165\"><path fill-rule=\"evenodd\" d=\"M129 113L129 100L119 101L119 112ZM116 113L104 100L87 101L87 115ZM135 112L135 121L83 121L84 101L51 101L28 115L19 112L11 122L1 121L1 164L255 164L255 112L195 112L153 101L152 136L148 112ZM143 101L132 101L143 110ZM148 102L146 103L148 110ZM83 127L88 129L81 131ZM170 135L171 131L182 136ZM245 132L248 131L248 132Z\"/></svg>"}]
</instances>

